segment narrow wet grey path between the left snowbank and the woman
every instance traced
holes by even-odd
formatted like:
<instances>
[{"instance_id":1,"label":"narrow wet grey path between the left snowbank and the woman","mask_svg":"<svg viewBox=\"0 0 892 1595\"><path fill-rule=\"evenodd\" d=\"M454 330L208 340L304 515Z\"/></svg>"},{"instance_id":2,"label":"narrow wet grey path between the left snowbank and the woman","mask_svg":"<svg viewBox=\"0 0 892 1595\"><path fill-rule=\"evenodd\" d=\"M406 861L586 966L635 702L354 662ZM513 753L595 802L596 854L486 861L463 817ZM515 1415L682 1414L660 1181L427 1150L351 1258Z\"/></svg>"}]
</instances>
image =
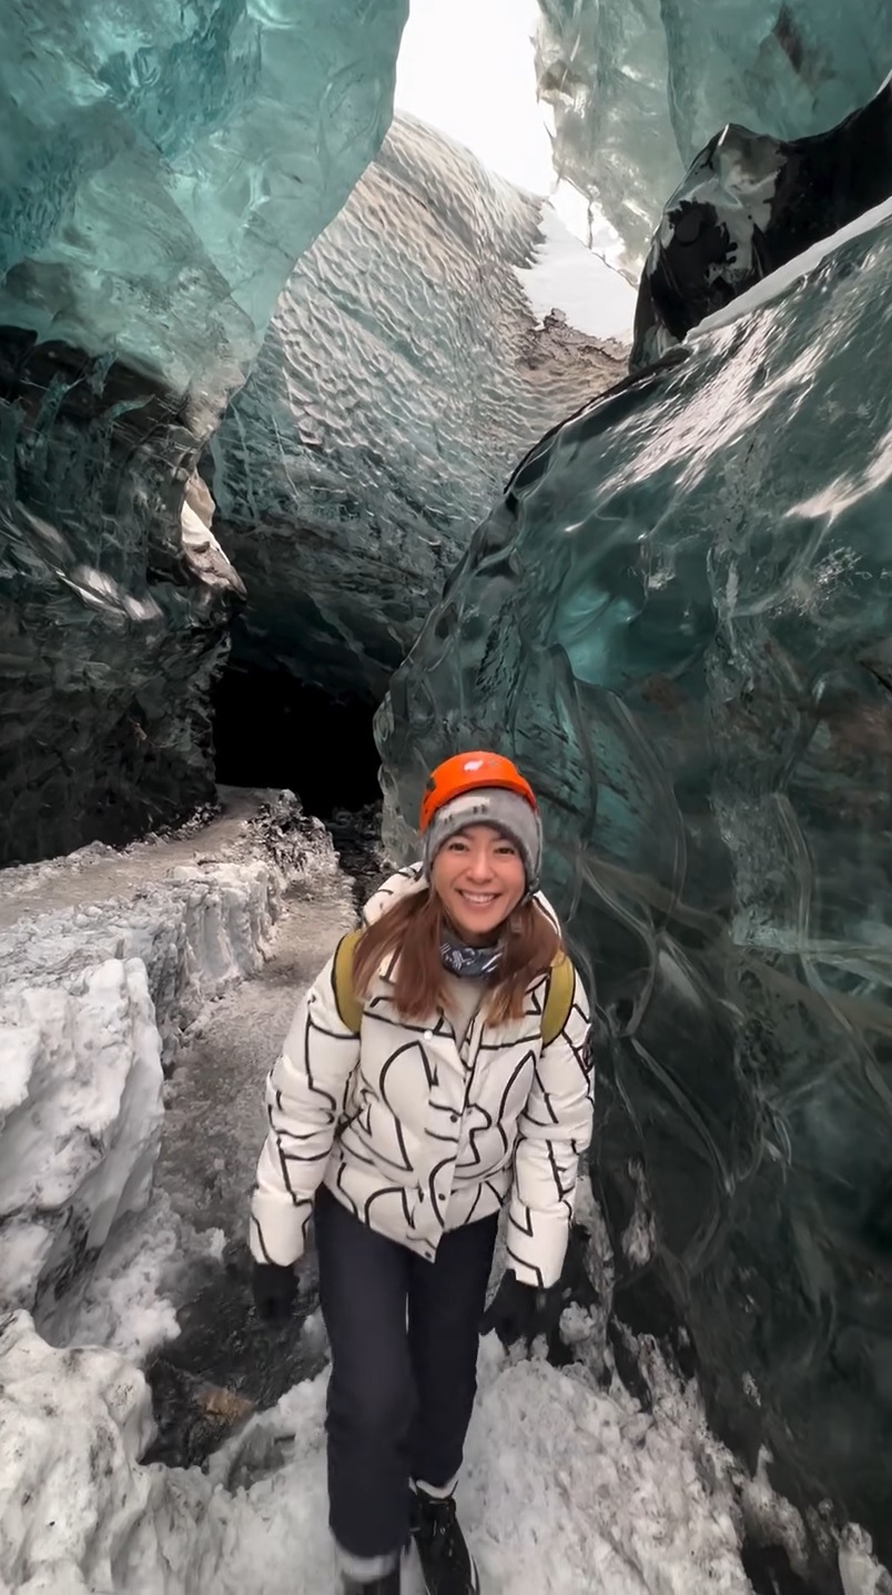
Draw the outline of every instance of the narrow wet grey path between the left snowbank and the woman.
<instances>
[{"instance_id":1,"label":"narrow wet grey path between the left snowbank and the woman","mask_svg":"<svg viewBox=\"0 0 892 1595\"><path fill-rule=\"evenodd\" d=\"M338 872L324 890L298 884L287 893L271 959L206 1010L168 1091L158 1193L195 1230L225 1239L219 1260L180 1276L180 1335L150 1367L161 1426L153 1455L166 1461L198 1461L219 1442L217 1424L204 1423L203 1391L270 1405L322 1362L319 1340L302 1332L314 1308L313 1265L300 1274L294 1324L274 1332L251 1306L244 1235L265 1132L263 1081L297 1002L356 922L351 885Z\"/></svg>"}]
</instances>

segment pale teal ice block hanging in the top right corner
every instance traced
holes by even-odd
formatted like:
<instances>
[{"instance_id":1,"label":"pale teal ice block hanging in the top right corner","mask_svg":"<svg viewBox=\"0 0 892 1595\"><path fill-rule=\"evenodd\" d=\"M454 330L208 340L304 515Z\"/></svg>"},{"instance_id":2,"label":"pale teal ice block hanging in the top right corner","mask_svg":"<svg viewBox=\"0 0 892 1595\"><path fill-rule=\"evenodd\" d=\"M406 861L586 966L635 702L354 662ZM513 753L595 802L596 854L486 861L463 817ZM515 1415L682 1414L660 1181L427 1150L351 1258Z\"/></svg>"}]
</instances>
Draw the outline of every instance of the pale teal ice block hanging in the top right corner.
<instances>
[{"instance_id":1,"label":"pale teal ice block hanging in the top right corner","mask_svg":"<svg viewBox=\"0 0 892 1595\"><path fill-rule=\"evenodd\" d=\"M889 72L889 6L857 0L539 0L539 91L557 171L643 258L699 150L740 123L823 132Z\"/></svg>"}]
</instances>

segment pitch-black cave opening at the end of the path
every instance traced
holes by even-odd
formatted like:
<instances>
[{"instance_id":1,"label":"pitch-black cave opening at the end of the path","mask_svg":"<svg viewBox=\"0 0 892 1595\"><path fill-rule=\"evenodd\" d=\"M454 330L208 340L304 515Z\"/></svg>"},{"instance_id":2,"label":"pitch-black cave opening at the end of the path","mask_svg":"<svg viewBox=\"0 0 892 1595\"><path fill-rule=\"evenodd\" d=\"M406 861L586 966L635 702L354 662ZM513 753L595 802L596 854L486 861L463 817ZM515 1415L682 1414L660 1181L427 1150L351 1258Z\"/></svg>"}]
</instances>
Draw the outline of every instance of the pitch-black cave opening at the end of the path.
<instances>
[{"instance_id":1,"label":"pitch-black cave opening at the end of the path","mask_svg":"<svg viewBox=\"0 0 892 1595\"><path fill-rule=\"evenodd\" d=\"M212 691L217 780L287 786L321 820L377 802L377 707L362 694L335 697L282 667L230 659Z\"/></svg>"}]
</instances>

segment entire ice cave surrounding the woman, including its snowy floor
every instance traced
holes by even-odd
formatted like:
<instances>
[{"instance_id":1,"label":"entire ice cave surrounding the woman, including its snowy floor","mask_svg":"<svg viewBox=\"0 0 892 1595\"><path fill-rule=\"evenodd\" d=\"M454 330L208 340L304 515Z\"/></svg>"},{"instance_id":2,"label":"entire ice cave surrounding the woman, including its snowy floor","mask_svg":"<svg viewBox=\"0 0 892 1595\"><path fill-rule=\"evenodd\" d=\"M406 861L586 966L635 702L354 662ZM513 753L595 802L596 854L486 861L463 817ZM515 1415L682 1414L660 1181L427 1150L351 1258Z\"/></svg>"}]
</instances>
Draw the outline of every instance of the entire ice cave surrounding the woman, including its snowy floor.
<instances>
[{"instance_id":1,"label":"entire ice cave surrounding the woman, including its snowy floor","mask_svg":"<svg viewBox=\"0 0 892 1595\"><path fill-rule=\"evenodd\" d=\"M595 1078L482 1592L890 1595L890 0L0 40L0 1595L337 1587L263 1080L468 746Z\"/></svg>"}]
</instances>

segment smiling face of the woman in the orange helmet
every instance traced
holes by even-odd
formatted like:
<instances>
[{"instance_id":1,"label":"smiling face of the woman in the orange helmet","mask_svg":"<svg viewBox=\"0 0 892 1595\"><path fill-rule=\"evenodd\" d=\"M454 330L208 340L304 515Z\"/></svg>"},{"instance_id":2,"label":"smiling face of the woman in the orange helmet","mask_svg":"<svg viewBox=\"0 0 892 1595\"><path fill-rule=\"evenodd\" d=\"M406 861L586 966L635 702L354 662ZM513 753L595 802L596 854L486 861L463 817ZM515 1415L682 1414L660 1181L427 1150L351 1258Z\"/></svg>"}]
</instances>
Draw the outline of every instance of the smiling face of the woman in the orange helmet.
<instances>
[{"instance_id":1,"label":"smiling face of the woman in the orange helmet","mask_svg":"<svg viewBox=\"0 0 892 1595\"><path fill-rule=\"evenodd\" d=\"M469 825L444 842L431 885L468 946L487 946L527 892L523 860L491 825Z\"/></svg>"}]
</instances>

